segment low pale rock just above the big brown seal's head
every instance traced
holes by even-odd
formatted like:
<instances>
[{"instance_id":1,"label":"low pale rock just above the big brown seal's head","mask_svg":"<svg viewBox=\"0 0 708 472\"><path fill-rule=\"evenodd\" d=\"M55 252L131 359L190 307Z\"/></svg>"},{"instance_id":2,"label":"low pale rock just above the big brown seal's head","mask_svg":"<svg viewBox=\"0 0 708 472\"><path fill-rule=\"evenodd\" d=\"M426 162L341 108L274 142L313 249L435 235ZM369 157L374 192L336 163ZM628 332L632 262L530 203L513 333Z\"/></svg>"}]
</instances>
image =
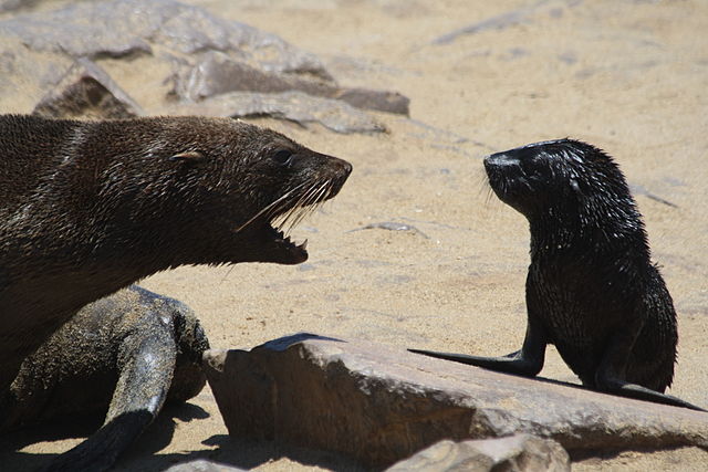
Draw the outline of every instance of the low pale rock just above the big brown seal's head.
<instances>
[{"instance_id":1,"label":"low pale rock just above the big brown seal's head","mask_svg":"<svg viewBox=\"0 0 708 472\"><path fill-rule=\"evenodd\" d=\"M231 92L192 104L177 104L164 111L170 115L259 117L288 119L303 126L320 123L337 133L377 133L384 126L346 103L302 92Z\"/></svg>"}]
</instances>

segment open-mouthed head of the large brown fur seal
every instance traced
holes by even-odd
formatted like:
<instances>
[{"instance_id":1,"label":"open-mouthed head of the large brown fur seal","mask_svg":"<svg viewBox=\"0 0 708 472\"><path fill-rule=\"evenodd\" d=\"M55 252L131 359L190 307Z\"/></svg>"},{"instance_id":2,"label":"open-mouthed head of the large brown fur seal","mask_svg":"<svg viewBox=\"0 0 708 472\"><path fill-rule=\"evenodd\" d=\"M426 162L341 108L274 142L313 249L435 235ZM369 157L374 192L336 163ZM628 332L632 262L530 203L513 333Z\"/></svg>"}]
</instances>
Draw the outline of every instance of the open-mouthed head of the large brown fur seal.
<instances>
[{"instance_id":1,"label":"open-mouthed head of the large brown fur seal","mask_svg":"<svg viewBox=\"0 0 708 472\"><path fill-rule=\"evenodd\" d=\"M340 191L352 166L232 119L185 125L162 165L179 176L183 201L198 202L197 211L185 209L194 219L187 224L209 228L204 238L216 254L230 254L227 262L305 261L306 241L295 244L289 232Z\"/></svg>"}]
</instances>

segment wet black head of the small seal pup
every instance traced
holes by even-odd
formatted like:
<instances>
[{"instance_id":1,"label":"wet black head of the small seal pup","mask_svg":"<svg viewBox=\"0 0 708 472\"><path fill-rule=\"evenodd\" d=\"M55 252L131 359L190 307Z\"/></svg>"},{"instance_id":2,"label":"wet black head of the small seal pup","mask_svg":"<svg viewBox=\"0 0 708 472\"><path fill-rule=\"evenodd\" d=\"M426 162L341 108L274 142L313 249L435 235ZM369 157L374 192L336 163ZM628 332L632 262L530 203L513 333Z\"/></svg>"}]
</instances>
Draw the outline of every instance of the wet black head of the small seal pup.
<instances>
[{"instance_id":1,"label":"wet black head of the small seal pup","mask_svg":"<svg viewBox=\"0 0 708 472\"><path fill-rule=\"evenodd\" d=\"M485 158L497 197L534 221L587 228L621 211L639 221L622 171L601 149L573 139L534 143Z\"/></svg>"}]
</instances>

